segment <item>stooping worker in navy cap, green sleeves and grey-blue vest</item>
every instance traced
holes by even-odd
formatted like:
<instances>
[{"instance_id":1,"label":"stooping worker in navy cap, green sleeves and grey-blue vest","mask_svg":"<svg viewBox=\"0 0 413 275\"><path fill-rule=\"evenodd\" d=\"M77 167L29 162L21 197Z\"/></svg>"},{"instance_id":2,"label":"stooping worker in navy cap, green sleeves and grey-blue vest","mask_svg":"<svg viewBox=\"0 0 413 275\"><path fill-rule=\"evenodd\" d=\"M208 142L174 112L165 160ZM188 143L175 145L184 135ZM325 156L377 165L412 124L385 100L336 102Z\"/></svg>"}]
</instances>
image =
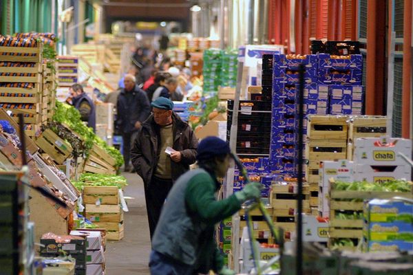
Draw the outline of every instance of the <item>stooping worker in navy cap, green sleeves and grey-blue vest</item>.
<instances>
[{"instance_id":1,"label":"stooping worker in navy cap, green sleeves and grey-blue vest","mask_svg":"<svg viewBox=\"0 0 413 275\"><path fill-rule=\"evenodd\" d=\"M215 193L218 180L231 161L228 143L206 137L198 146L200 168L185 173L173 185L166 199L152 240L151 275L235 274L224 267L214 239L215 224L231 217L248 199L261 195L261 184L246 184L243 190L220 201Z\"/></svg>"}]
</instances>

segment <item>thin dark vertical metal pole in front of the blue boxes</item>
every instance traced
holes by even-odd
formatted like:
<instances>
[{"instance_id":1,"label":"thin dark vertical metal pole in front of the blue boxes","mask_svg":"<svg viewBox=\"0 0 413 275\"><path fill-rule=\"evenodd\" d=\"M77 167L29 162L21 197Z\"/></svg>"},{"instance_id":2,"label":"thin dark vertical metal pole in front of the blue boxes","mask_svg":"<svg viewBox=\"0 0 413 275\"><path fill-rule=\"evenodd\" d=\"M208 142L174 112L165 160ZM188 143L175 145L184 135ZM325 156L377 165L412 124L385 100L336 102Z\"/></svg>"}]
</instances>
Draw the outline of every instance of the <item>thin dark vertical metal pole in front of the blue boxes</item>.
<instances>
[{"instance_id":1,"label":"thin dark vertical metal pole in front of the blue boxes","mask_svg":"<svg viewBox=\"0 0 413 275\"><path fill-rule=\"evenodd\" d=\"M304 123L304 65L299 65L298 100L298 167L297 167L297 275L303 274L303 123Z\"/></svg>"}]
</instances>

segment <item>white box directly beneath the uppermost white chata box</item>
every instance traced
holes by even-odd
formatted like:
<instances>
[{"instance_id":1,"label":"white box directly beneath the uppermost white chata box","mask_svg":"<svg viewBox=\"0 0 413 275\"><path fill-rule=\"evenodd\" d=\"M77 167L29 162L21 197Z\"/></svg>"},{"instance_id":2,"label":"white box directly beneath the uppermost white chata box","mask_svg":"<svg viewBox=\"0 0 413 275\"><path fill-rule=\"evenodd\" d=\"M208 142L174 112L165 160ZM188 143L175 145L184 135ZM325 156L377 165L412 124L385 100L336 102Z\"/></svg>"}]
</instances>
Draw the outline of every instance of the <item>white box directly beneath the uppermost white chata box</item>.
<instances>
[{"instance_id":1,"label":"white box directly beneath the uppermost white chata box","mask_svg":"<svg viewBox=\"0 0 413 275\"><path fill-rule=\"evenodd\" d=\"M383 183L395 179L412 179L412 168L409 165L399 165L392 172L377 171L377 167L374 169L368 164L358 164L355 168L355 181Z\"/></svg>"}]
</instances>

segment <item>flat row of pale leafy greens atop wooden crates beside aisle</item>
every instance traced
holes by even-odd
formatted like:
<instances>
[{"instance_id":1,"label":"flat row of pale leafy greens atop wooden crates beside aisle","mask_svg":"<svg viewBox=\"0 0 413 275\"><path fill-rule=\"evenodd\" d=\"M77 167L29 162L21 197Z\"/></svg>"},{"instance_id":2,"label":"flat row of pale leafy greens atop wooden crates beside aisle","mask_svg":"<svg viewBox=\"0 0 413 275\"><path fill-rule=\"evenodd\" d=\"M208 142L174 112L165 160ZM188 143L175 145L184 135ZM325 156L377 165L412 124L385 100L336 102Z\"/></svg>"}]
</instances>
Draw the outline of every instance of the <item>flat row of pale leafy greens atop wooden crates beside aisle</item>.
<instances>
[{"instance_id":1,"label":"flat row of pale leafy greens atop wooden crates beside aisle","mask_svg":"<svg viewBox=\"0 0 413 275\"><path fill-rule=\"evenodd\" d=\"M83 186L117 186L119 189L127 186L126 178L123 176L92 173L84 173L78 181L72 183L78 190L83 190Z\"/></svg>"}]
</instances>

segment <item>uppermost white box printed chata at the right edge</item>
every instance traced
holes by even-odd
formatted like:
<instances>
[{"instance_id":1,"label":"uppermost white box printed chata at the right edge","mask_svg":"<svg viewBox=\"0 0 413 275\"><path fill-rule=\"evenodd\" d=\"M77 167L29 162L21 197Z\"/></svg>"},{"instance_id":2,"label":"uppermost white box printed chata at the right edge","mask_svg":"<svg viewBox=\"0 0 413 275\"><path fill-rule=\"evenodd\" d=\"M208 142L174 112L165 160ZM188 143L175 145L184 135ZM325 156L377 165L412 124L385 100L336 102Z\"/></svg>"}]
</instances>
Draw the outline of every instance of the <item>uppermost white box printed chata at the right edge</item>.
<instances>
[{"instance_id":1,"label":"uppermost white box printed chata at the right edge","mask_svg":"<svg viewBox=\"0 0 413 275\"><path fill-rule=\"evenodd\" d=\"M392 137L357 138L354 142L354 162L378 166L404 166L407 162L399 155L412 158L412 140Z\"/></svg>"}]
</instances>

